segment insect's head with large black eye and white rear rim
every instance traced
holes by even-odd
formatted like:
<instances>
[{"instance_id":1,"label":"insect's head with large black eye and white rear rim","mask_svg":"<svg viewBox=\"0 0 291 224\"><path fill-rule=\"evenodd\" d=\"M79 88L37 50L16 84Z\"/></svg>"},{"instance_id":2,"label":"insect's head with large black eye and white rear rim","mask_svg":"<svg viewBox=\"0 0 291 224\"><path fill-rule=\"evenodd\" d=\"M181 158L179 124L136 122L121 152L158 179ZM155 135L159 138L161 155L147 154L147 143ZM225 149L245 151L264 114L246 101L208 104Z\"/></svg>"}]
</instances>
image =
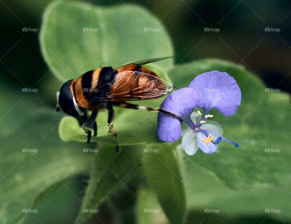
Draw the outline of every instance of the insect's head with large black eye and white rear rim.
<instances>
[{"instance_id":1,"label":"insect's head with large black eye and white rear rim","mask_svg":"<svg viewBox=\"0 0 291 224\"><path fill-rule=\"evenodd\" d=\"M62 110L73 117L82 116L85 110L82 107L78 107L74 93L71 91L70 84L73 79L67 81L62 85L62 88L57 92L57 111Z\"/></svg>"}]
</instances>

